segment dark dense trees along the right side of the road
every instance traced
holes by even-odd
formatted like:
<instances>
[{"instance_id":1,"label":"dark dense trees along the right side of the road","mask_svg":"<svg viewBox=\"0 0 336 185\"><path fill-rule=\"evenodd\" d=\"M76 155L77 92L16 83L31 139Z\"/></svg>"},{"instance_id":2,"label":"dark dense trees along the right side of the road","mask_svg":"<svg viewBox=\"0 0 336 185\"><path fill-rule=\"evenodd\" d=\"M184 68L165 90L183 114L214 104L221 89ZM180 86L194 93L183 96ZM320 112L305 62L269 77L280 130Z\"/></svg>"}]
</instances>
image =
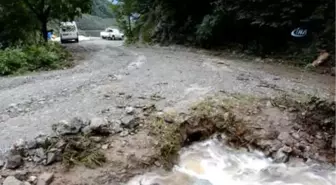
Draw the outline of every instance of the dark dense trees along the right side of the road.
<instances>
[{"instance_id":1,"label":"dark dense trees along the right side of the road","mask_svg":"<svg viewBox=\"0 0 336 185\"><path fill-rule=\"evenodd\" d=\"M336 51L333 0L122 0L116 6L119 24L136 40L230 47L303 62L312 62L320 49ZM127 17L132 13L140 19L130 28ZM306 27L308 36L291 37L297 27Z\"/></svg>"}]
</instances>

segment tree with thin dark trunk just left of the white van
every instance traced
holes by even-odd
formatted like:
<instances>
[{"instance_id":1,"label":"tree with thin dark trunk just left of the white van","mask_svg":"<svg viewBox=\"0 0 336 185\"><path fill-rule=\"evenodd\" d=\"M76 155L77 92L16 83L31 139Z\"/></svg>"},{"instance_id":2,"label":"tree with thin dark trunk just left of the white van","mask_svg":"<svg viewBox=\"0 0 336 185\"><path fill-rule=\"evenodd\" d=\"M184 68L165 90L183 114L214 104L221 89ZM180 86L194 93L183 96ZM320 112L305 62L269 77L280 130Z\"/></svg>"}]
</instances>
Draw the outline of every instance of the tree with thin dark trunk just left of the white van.
<instances>
[{"instance_id":1,"label":"tree with thin dark trunk just left of the white van","mask_svg":"<svg viewBox=\"0 0 336 185\"><path fill-rule=\"evenodd\" d=\"M48 40L47 24L51 20L74 20L91 11L92 0L20 0L34 14L40 24L45 41Z\"/></svg>"}]
</instances>

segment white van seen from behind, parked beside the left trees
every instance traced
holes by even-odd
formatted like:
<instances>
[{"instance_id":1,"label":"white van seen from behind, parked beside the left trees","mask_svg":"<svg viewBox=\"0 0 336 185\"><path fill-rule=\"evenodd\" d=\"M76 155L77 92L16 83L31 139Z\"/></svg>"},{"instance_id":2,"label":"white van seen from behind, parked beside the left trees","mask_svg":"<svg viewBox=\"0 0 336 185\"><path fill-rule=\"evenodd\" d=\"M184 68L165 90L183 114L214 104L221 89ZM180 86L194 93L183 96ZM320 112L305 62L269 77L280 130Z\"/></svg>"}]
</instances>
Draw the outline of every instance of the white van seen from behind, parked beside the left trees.
<instances>
[{"instance_id":1,"label":"white van seen from behind, parked beside the left trees","mask_svg":"<svg viewBox=\"0 0 336 185\"><path fill-rule=\"evenodd\" d=\"M60 25L60 38L61 43L67 41L78 42L78 29L76 22L61 22Z\"/></svg>"}]
</instances>

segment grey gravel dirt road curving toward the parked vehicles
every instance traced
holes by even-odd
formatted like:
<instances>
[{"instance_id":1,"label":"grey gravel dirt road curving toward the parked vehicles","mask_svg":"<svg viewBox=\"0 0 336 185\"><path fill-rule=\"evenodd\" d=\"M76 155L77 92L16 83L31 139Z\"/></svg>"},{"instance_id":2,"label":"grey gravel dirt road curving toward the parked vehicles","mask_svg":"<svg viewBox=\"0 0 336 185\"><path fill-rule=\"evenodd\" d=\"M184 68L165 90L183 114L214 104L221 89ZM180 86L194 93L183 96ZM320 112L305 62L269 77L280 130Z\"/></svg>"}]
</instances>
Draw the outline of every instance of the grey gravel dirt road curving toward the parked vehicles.
<instances>
[{"instance_id":1,"label":"grey gravel dirt road curving toward the parked vehicles","mask_svg":"<svg viewBox=\"0 0 336 185\"><path fill-rule=\"evenodd\" d=\"M59 120L80 116L121 119L124 107L155 103L188 108L226 91L272 96L333 97L336 80L281 66L246 63L168 48L125 48L93 39L67 47L82 56L72 69L0 79L0 149L48 134Z\"/></svg>"}]
</instances>

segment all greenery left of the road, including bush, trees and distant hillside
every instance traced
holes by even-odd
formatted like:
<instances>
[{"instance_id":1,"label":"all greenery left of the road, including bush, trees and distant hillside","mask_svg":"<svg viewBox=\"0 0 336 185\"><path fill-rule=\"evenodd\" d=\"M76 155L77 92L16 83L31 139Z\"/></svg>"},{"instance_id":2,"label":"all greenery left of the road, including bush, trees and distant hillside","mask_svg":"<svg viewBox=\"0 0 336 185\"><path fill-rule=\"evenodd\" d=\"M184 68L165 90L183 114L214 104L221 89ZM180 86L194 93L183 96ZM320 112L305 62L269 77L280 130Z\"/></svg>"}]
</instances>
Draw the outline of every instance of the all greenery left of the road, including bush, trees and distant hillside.
<instances>
[{"instance_id":1,"label":"all greenery left of the road, including bush, trees and distant hillside","mask_svg":"<svg viewBox=\"0 0 336 185\"><path fill-rule=\"evenodd\" d=\"M79 28L102 29L113 22L103 21L113 16L110 4L107 0L1 0L0 76L71 65L63 47L47 43L48 31L57 33L60 21L74 19L79 20Z\"/></svg>"}]
</instances>

